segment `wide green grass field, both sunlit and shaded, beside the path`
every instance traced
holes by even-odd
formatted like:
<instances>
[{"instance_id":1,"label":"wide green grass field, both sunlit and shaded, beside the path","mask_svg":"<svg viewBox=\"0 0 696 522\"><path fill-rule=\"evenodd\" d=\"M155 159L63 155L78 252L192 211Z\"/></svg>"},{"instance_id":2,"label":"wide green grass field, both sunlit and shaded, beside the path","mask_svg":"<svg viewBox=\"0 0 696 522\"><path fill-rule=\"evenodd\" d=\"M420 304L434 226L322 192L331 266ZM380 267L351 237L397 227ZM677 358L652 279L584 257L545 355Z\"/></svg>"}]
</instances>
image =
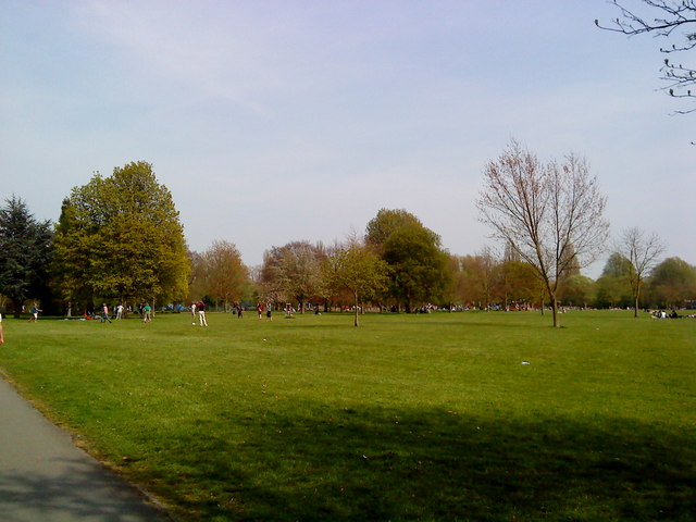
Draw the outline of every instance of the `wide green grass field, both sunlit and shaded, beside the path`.
<instances>
[{"instance_id":1,"label":"wide green grass field, both sunlit and shaded, beside the path","mask_svg":"<svg viewBox=\"0 0 696 522\"><path fill-rule=\"evenodd\" d=\"M184 520L693 521L696 320L631 315L7 319L0 369Z\"/></svg>"}]
</instances>

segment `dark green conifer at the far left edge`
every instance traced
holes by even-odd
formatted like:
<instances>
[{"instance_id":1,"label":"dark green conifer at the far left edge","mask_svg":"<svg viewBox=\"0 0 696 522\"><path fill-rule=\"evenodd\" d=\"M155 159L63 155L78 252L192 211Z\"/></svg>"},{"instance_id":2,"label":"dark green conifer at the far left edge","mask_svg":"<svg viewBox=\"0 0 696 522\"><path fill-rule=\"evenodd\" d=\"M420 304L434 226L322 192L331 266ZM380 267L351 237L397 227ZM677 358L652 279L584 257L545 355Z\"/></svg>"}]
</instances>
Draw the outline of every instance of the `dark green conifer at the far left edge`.
<instances>
[{"instance_id":1,"label":"dark green conifer at the far left edge","mask_svg":"<svg viewBox=\"0 0 696 522\"><path fill-rule=\"evenodd\" d=\"M0 209L0 294L12 301L15 318L46 288L52 237L51 222L36 221L21 198Z\"/></svg>"}]
</instances>

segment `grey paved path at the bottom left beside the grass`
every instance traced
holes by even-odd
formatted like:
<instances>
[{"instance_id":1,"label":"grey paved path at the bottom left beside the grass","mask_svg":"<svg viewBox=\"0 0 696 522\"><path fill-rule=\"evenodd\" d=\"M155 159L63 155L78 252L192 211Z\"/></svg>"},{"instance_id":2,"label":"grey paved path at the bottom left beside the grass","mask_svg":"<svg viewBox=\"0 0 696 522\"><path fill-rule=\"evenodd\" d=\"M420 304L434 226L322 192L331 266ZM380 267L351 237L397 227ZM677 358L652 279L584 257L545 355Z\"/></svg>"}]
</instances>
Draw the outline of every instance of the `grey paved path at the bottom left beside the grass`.
<instances>
[{"instance_id":1,"label":"grey paved path at the bottom left beside the grass","mask_svg":"<svg viewBox=\"0 0 696 522\"><path fill-rule=\"evenodd\" d=\"M1 522L165 522L0 377Z\"/></svg>"}]
</instances>

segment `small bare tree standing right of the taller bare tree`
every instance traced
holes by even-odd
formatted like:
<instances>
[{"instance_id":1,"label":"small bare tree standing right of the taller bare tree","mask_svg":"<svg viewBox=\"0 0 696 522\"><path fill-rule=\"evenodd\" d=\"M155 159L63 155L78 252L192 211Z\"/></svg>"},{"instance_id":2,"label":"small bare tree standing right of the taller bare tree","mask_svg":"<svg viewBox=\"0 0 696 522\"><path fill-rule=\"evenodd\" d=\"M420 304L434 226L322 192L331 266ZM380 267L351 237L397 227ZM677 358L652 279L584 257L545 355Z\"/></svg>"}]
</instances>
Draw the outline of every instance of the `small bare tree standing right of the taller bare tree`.
<instances>
[{"instance_id":1,"label":"small bare tree standing right of the taller bare tree","mask_svg":"<svg viewBox=\"0 0 696 522\"><path fill-rule=\"evenodd\" d=\"M634 316L638 316L638 300L643 279L655 268L658 258L664 251L664 245L657 234L647 236L637 227L623 231L617 251L630 263L629 281L634 302Z\"/></svg>"}]
</instances>

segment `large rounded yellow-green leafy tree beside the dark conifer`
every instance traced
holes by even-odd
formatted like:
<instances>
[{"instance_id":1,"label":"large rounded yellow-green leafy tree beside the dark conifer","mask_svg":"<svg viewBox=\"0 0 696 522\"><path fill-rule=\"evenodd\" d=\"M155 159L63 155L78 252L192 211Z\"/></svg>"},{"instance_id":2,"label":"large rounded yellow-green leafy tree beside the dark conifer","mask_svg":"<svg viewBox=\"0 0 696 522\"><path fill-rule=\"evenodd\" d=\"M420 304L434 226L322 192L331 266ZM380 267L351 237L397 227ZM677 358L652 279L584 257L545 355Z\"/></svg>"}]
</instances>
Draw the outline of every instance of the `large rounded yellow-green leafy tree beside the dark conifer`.
<instances>
[{"instance_id":1,"label":"large rounded yellow-green leafy tree beside the dark conifer","mask_svg":"<svg viewBox=\"0 0 696 522\"><path fill-rule=\"evenodd\" d=\"M121 300L179 299L190 263L169 189L139 161L95 174L63 203L55 236L62 291Z\"/></svg>"}]
</instances>

